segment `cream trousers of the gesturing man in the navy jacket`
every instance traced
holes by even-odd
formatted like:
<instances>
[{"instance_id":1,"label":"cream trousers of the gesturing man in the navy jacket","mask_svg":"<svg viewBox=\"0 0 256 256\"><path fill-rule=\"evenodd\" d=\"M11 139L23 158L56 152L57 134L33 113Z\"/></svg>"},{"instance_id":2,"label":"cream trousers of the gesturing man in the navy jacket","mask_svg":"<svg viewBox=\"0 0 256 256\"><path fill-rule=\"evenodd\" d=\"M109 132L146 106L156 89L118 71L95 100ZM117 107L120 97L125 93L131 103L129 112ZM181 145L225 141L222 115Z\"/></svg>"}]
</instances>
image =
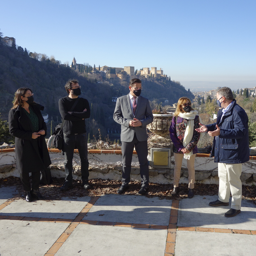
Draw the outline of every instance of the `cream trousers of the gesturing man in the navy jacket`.
<instances>
[{"instance_id":1,"label":"cream trousers of the gesturing man in the navy jacket","mask_svg":"<svg viewBox=\"0 0 256 256\"><path fill-rule=\"evenodd\" d=\"M219 174L219 200L224 203L229 202L230 192L232 195L231 208L241 209L242 201L242 163L218 163Z\"/></svg>"}]
</instances>

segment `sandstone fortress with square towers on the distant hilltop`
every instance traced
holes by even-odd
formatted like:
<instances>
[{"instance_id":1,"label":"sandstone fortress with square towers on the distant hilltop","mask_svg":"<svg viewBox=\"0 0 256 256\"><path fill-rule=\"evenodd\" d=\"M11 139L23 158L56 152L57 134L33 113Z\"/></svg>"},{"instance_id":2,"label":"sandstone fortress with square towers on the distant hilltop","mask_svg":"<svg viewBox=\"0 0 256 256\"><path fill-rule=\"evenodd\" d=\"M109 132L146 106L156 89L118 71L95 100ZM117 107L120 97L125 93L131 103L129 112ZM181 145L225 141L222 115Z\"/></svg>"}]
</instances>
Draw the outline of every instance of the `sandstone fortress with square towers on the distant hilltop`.
<instances>
[{"instance_id":1,"label":"sandstone fortress with square towers on the distant hilltop","mask_svg":"<svg viewBox=\"0 0 256 256\"><path fill-rule=\"evenodd\" d=\"M77 61L75 57L72 60L72 65L70 67L78 67L80 65L84 64L77 64ZM114 70L114 72L111 70ZM159 78L164 77L168 80L167 75L163 73L163 69L160 68L160 70L157 70L157 67L151 67L151 70L149 67L143 67L140 70L134 70L134 67L127 66L127 67L93 67L93 70L91 72L87 73L91 78L96 78L99 82L102 82L104 78L107 78L110 80L110 82L130 82L133 78L143 79L143 78Z\"/></svg>"}]
</instances>

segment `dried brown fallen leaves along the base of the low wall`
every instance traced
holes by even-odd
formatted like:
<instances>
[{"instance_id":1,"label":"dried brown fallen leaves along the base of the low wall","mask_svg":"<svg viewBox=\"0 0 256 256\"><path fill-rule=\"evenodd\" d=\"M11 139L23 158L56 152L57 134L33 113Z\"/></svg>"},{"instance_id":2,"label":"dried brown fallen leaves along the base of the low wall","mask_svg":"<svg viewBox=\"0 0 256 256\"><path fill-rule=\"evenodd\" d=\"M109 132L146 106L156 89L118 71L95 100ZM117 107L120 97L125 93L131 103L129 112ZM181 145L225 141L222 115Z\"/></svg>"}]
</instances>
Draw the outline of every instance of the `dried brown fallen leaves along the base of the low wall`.
<instances>
[{"instance_id":1,"label":"dried brown fallen leaves along the base of the low wall","mask_svg":"<svg viewBox=\"0 0 256 256\"><path fill-rule=\"evenodd\" d=\"M116 194L117 189L120 187L121 182L119 180L103 180L103 179L91 179L89 183L93 186L93 189L85 190L82 187L81 180L74 180L72 187L68 190L61 191L60 187L65 182L64 178L53 178L51 185L40 186L40 193L46 200L61 200L62 197L69 197L76 199L83 196L95 196L104 194ZM23 189L20 183L20 179L17 177L8 177L0 179L0 186L15 185L19 190L20 197L23 198ZM149 184L149 191L147 197L158 196L161 199L183 199L187 197L188 184L180 184L179 196L172 197L171 191L173 189L172 184ZM141 188L141 183L138 181L131 181L129 189L126 190L125 195L138 195L138 191ZM195 184L195 195L218 195L219 186L216 184ZM256 202L256 187L243 185L242 189L243 199L253 200Z\"/></svg>"}]
</instances>

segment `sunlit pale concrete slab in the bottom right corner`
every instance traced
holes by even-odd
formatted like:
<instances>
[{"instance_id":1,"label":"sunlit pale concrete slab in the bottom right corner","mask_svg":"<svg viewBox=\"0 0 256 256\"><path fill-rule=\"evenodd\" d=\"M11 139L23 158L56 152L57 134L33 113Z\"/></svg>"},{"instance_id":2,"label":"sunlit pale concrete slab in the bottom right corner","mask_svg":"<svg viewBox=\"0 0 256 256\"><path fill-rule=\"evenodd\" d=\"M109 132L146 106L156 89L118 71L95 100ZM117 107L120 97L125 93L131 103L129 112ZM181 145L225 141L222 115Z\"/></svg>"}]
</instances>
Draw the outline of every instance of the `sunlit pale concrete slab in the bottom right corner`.
<instances>
[{"instance_id":1,"label":"sunlit pale concrete slab in the bottom right corner","mask_svg":"<svg viewBox=\"0 0 256 256\"><path fill-rule=\"evenodd\" d=\"M255 256L256 236L177 231L175 256Z\"/></svg>"}]
</instances>

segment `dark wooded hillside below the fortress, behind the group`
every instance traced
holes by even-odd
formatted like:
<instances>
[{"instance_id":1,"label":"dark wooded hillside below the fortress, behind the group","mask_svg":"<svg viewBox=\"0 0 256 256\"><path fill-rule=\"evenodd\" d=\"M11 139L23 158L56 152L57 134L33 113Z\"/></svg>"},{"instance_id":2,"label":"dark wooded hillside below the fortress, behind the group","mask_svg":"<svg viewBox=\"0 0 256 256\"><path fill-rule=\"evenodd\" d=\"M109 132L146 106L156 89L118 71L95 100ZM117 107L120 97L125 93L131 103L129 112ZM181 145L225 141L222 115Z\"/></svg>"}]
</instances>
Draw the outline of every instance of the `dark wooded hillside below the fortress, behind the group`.
<instances>
[{"instance_id":1,"label":"dark wooded hillside below the fortress, behind the group","mask_svg":"<svg viewBox=\"0 0 256 256\"><path fill-rule=\"evenodd\" d=\"M91 69L92 66L87 63L86 68ZM64 85L70 78L79 80L79 85L82 87L81 97L88 99L91 104L91 118L86 121L90 138L93 138L93 135L96 137L99 135L99 128L103 137L107 135L107 131L110 133L111 130L113 133L120 131L120 125L113 120L115 102L112 102L112 97L128 94L127 82L120 84L109 83L105 80L103 83L97 83L86 77L84 73L70 68L68 63L61 65L61 61L56 60L54 56L49 58L45 54L32 53L16 45L9 47L3 45L0 40L1 119L8 119L8 112L12 107L16 90L21 87L31 88L35 102L45 106L44 112L49 115L49 137L51 125L54 128L61 122L58 100L67 95ZM163 99L168 99L169 104L173 104L182 96L194 98L193 94L186 91L179 82L166 79L143 80L142 87L141 95L151 101L156 101L157 104L160 104Z\"/></svg>"}]
</instances>

